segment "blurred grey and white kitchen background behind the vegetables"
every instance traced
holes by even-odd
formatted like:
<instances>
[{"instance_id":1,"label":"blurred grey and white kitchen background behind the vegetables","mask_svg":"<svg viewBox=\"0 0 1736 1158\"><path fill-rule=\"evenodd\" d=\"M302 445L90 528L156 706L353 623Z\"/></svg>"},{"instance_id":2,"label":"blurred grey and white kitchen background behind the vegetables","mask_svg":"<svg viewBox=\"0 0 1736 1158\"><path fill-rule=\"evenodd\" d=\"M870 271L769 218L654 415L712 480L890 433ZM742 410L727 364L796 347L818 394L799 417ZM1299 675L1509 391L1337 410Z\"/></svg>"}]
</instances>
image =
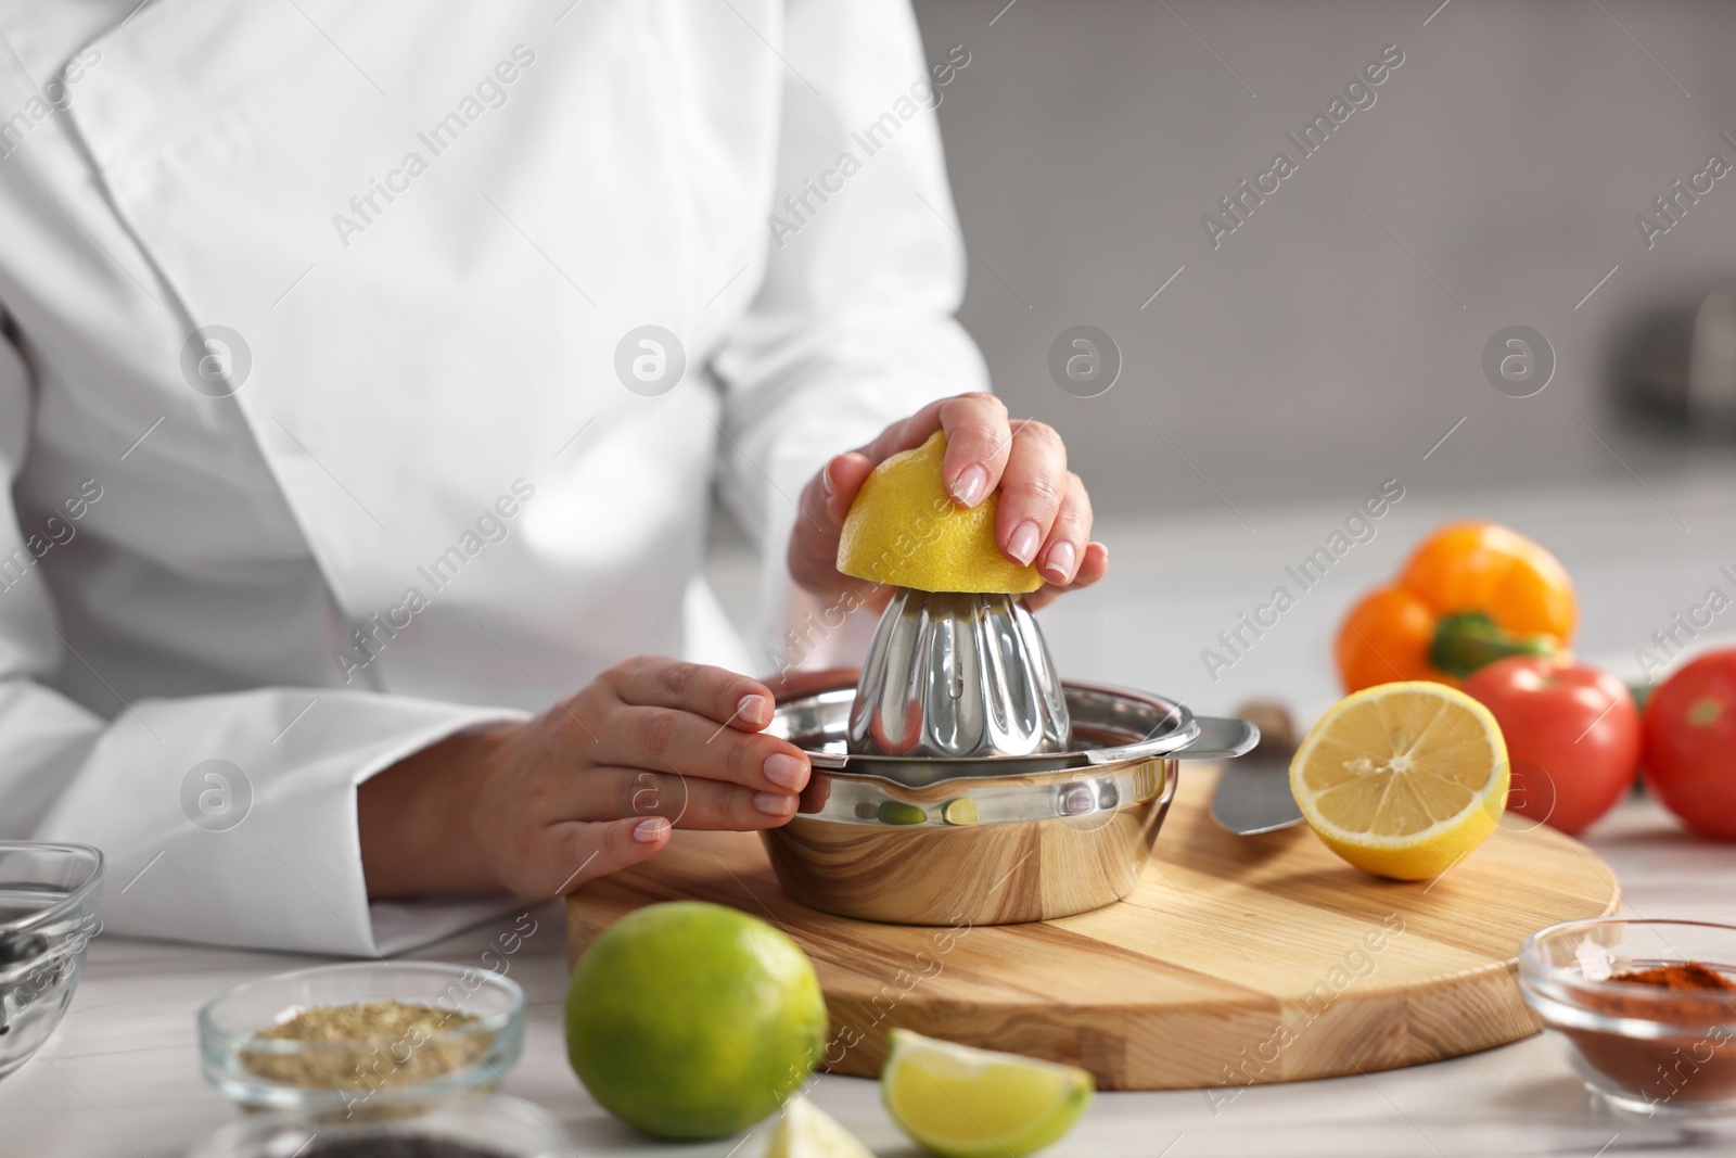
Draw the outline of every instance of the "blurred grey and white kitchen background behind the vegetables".
<instances>
[{"instance_id":1,"label":"blurred grey and white kitchen background behind the vegetables","mask_svg":"<svg viewBox=\"0 0 1736 1158\"><path fill-rule=\"evenodd\" d=\"M1062 675L1224 710L1337 694L1332 639L1429 530L1505 521L1573 573L1575 641L1623 675L1705 592L1736 595L1729 424L1618 405L1614 351L1653 335L1680 389L1694 309L1736 285L1736 174L1646 238L1656 198L1736 163L1736 3L1724 0L917 0L970 252L962 318L1017 417L1054 424L1111 573L1043 613ZM1403 64L1305 160L1286 134L1387 45ZM1201 217L1285 151L1295 175L1212 247ZM1179 273L1177 273L1179 271ZM1161 293L1156 293L1161 286ZM1156 295L1154 295L1156 293ZM1153 297L1154 295L1154 297ZM1668 311L1668 325L1647 321ZM1736 304L1713 358L1736 403ZM1120 349L1076 398L1049 372L1073 325ZM1484 345L1531 326L1531 398ZM1713 342L1717 345L1717 342ZM1717 368L1715 366L1715 368ZM1627 377L1634 377L1627 373ZM1661 384L1661 385L1660 385ZM1717 399L1713 399L1717 403ZM1717 410L1717 405L1710 406ZM1444 439L1444 441L1443 441ZM1404 500L1229 670L1203 653L1384 479ZM750 604L752 561L713 550ZM1722 620L1731 620L1729 623ZM1694 641L1731 639L1736 611Z\"/></svg>"}]
</instances>

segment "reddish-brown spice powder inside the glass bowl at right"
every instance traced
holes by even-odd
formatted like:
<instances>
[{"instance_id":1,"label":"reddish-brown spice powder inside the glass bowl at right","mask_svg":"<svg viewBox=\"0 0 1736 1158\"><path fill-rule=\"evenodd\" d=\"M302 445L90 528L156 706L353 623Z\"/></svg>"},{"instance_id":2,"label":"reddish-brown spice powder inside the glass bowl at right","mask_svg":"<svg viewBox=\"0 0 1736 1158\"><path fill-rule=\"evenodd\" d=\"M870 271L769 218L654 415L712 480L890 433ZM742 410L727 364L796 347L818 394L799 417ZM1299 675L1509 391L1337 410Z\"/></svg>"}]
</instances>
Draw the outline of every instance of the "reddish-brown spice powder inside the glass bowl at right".
<instances>
[{"instance_id":1,"label":"reddish-brown spice powder inside the glass bowl at right","mask_svg":"<svg viewBox=\"0 0 1736 1158\"><path fill-rule=\"evenodd\" d=\"M1637 1040L1602 1030L1562 1028L1587 1064L1635 1101L1726 1102L1736 1099L1736 981L1722 967L1667 962L1618 972L1611 981L1665 990L1668 997L1639 997L1608 990L1581 1000L1611 1017L1637 1017L1680 1026L1680 1035Z\"/></svg>"}]
</instances>

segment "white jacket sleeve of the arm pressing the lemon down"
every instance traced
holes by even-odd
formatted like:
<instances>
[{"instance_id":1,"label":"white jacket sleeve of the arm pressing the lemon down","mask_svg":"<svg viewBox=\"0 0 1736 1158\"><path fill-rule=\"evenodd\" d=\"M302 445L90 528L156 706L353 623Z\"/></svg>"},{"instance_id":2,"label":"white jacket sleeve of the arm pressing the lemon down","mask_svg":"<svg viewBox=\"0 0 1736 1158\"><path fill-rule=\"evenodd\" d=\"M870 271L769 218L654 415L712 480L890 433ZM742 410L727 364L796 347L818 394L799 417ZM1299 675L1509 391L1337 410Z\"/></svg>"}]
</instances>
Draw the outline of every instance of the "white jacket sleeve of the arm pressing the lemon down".
<instances>
[{"instance_id":1,"label":"white jacket sleeve of the arm pressing the lemon down","mask_svg":"<svg viewBox=\"0 0 1736 1158\"><path fill-rule=\"evenodd\" d=\"M793 0L781 50L764 280L712 363L726 389L720 491L764 557L767 672L838 661L870 620L830 630L837 611L790 582L807 479L936 398L988 389L953 318L965 248L934 116L939 80L963 80L969 52L930 68L910 7L885 0Z\"/></svg>"}]
</instances>

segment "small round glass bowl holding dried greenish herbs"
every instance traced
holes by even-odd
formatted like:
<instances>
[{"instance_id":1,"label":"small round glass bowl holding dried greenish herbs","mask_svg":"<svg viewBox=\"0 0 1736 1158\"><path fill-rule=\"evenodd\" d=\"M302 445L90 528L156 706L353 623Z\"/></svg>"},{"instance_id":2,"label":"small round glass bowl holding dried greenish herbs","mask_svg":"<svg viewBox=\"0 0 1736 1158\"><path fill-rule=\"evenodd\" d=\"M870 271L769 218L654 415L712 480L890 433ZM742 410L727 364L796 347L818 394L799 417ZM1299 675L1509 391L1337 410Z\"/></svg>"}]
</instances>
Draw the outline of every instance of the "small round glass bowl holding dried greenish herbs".
<instances>
[{"instance_id":1,"label":"small round glass bowl holding dried greenish herbs","mask_svg":"<svg viewBox=\"0 0 1736 1158\"><path fill-rule=\"evenodd\" d=\"M319 1005L406 1002L437 1010L432 1028L299 1042L262 1038ZM450 1014L476 1021L444 1023ZM342 1122L391 1118L490 1089L524 1049L524 991L483 969L434 962L358 962L238 984L200 1010L205 1080L252 1109Z\"/></svg>"}]
</instances>

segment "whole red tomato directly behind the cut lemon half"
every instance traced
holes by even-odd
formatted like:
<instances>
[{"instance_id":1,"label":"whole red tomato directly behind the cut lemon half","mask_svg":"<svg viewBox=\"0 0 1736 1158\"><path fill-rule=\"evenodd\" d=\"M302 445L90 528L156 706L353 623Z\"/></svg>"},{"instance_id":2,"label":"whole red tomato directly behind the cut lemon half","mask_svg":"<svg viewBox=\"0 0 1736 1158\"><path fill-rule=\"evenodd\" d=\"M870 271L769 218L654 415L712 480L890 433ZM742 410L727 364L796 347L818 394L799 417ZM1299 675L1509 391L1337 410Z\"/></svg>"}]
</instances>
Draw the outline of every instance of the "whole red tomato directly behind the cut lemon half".
<instances>
[{"instance_id":1,"label":"whole red tomato directly behind the cut lemon half","mask_svg":"<svg viewBox=\"0 0 1736 1158\"><path fill-rule=\"evenodd\" d=\"M1510 656L1472 672L1463 689L1507 738L1509 813L1578 833L1634 786L1639 708L1609 672Z\"/></svg>"}]
</instances>

